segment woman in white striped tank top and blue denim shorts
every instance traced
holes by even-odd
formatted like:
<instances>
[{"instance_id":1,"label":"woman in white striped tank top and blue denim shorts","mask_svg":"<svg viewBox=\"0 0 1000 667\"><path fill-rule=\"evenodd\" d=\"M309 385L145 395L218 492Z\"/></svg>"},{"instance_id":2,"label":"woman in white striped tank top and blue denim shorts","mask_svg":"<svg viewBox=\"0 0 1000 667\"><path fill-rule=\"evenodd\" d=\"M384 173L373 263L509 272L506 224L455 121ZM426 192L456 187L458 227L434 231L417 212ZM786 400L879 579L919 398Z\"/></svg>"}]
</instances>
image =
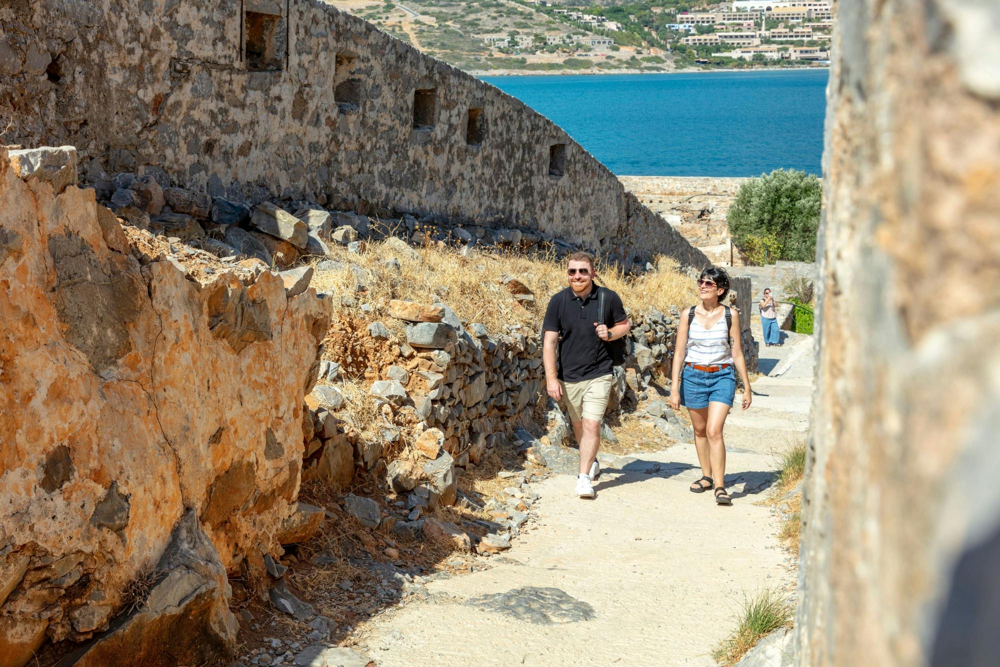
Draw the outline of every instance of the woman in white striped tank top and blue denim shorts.
<instances>
[{"instance_id":1,"label":"woman in white striped tank top and blue denim shorts","mask_svg":"<svg viewBox=\"0 0 1000 667\"><path fill-rule=\"evenodd\" d=\"M694 427L694 446L702 478L691 485L691 491L702 493L714 488L715 502L719 505L733 504L726 493L726 444L722 427L736 396L734 366L743 380L743 410L753 400L740 344L740 314L719 303L728 292L726 271L713 267L701 272L698 278L701 303L681 312L670 385L670 407L678 410L683 404Z\"/></svg>"}]
</instances>

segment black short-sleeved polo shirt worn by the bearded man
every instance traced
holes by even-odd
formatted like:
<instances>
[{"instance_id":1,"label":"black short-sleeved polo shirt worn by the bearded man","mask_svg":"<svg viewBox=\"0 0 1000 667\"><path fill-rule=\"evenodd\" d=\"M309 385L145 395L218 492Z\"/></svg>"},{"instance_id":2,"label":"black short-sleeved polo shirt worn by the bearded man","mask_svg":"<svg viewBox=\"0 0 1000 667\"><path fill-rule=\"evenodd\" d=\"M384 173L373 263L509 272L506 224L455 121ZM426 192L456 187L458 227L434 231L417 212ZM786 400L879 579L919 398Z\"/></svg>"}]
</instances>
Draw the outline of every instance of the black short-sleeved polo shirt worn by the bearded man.
<instances>
[{"instance_id":1,"label":"black short-sleeved polo shirt worn by the bearded man","mask_svg":"<svg viewBox=\"0 0 1000 667\"><path fill-rule=\"evenodd\" d=\"M597 338L597 295L604 290L604 323L625 321L625 306L615 292L594 285L585 299L566 287L555 294L545 310L542 328L559 333L559 380L578 383L611 374L611 352Z\"/></svg>"}]
</instances>

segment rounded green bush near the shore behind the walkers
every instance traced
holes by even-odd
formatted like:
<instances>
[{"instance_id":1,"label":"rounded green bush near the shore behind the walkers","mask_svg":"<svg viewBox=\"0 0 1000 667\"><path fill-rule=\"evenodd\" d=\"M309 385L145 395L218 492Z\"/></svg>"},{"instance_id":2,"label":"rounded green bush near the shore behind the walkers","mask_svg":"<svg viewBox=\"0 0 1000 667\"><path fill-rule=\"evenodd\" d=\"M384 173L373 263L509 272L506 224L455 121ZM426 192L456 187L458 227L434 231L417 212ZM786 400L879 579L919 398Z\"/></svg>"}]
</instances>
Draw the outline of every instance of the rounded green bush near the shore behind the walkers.
<instances>
[{"instance_id":1,"label":"rounded green bush near the shore behind the walkers","mask_svg":"<svg viewBox=\"0 0 1000 667\"><path fill-rule=\"evenodd\" d=\"M754 263L814 261L822 186L815 174L775 169L740 186L726 221Z\"/></svg>"}]
</instances>

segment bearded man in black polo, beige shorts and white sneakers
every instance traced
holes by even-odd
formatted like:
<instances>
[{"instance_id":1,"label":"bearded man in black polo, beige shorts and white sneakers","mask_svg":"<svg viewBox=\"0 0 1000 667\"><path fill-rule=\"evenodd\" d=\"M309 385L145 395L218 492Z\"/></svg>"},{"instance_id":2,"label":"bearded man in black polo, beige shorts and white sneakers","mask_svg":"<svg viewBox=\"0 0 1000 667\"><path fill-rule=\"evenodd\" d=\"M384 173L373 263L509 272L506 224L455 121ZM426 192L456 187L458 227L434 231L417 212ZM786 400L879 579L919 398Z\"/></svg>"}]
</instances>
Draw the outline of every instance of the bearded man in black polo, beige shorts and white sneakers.
<instances>
[{"instance_id":1,"label":"bearded man in black polo, beige shorts and white sneakers","mask_svg":"<svg viewBox=\"0 0 1000 667\"><path fill-rule=\"evenodd\" d=\"M576 493L593 498L592 482L600 475L601 420L611 394L613 360L608 344L627 335L631 323L618 294L594 284L592 254L569 255L566 273L569 286L556 293L545 310L542 361L549 396L565 406L580 445Z\"/></svg>"}]
</instances>

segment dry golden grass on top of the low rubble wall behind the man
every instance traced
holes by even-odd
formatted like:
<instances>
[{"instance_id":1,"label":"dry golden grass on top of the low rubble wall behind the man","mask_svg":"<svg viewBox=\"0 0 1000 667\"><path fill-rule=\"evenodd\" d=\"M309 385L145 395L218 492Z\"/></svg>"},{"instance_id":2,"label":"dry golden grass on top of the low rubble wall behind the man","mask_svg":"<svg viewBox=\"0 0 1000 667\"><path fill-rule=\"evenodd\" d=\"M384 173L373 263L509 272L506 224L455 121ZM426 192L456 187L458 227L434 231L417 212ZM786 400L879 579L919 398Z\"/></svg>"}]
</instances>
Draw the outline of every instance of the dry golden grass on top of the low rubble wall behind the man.
<instances>
[{"instance_id":1,"label":"dry golden grass on top of the low rubble wall behind the man","mask_svg":"<svg viewBox=\"0 0 1000 667\"><path fill-rule=\"evenodd\" d=\"M385 241L369 242L365 252L351 253L345 247L331 246L330 257L355 264L367 271L359 279L352 271L317 271L312 285L334 294L351 295L356 303L370 303L378 312L393 298L431 303L447 303L459 317L469 322L481 322L491 331L500 332L514 323L537 328L549 297L567 285L565 263L554 255L526 255L518 252L472 250L463 255L447 246L427 244L407 252ZM387 268L384 261L397 258L400 270ZM697 300L694 280L682 273L666 258L658 260L660 270L629 277L613 266L598 262L602 283L622 296L633 314L649 308L668 311L671 305ZM531 303L519 303L500 283L509 274L527 285L535 294ZM355 293L357 282L366 291ZM333 299L334 318L342 310L356 313L352 305ZM347 314L346 312L344 314ZM387 318L384 323L402 330L402 322Z\"/></svg>"}]
</instances>

